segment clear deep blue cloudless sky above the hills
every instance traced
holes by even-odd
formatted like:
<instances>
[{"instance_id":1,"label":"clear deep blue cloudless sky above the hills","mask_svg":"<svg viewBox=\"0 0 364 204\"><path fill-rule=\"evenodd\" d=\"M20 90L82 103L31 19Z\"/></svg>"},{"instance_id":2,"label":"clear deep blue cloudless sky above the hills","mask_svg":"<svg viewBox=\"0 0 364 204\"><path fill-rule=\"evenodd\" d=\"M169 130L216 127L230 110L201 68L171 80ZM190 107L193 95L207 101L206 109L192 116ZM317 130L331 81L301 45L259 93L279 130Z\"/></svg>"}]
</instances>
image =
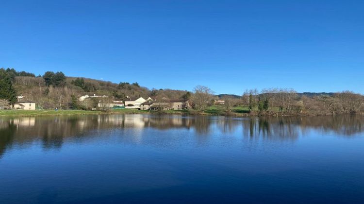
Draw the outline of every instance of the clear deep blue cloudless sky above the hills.
<instances>
[{"instance_id":1,"label":"clear deep blue cloudless sky above the hills","mask_svg":"<svg viewBox=\"0 0 364 204\"><path fill-rule=\"evenodd\" d=\"M364 93L363 0L3 0L0 67L149 88Z\"/></svg>"}]
</instances>

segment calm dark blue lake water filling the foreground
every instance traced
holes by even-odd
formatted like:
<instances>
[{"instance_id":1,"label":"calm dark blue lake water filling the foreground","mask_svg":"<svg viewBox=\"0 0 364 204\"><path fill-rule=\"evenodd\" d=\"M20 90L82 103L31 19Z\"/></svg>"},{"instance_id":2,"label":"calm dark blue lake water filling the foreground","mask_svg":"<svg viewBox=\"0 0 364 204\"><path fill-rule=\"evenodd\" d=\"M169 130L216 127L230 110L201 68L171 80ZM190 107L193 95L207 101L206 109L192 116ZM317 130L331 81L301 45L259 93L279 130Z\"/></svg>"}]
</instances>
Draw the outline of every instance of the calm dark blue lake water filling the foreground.
<instances>
[{"instance_id":1,"label":"calm dark blue lake water filling the foreground","mask_svg":"<svg viewBox=\"0 0 364 204\"><path fill-rule=\"evenodd\" d=\"M0 203L364 203L364 117L0 118Z\"/></svg>"}]
</instances>

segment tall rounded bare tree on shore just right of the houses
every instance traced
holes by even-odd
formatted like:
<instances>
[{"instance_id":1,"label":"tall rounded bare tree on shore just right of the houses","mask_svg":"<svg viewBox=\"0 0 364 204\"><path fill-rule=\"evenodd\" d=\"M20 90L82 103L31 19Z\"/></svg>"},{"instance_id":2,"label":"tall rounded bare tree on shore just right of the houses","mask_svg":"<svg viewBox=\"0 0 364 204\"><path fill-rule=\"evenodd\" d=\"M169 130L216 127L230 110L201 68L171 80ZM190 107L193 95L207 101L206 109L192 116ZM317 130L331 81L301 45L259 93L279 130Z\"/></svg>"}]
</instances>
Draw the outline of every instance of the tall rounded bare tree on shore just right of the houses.
<instances>
[{"instance_id":1,"label":"tall rounded bare tree on shore just right of the houses","mask_svg":"<svg viewBox=\"0 0 364 204\"><path fill-rule=\"evenodd\" d=\"M213 91L207 86L198 85L195 87L194 92L192 102L194 103L195 108L200 112L203 112L213 98Z\"/></svg>"}]
</instances>

